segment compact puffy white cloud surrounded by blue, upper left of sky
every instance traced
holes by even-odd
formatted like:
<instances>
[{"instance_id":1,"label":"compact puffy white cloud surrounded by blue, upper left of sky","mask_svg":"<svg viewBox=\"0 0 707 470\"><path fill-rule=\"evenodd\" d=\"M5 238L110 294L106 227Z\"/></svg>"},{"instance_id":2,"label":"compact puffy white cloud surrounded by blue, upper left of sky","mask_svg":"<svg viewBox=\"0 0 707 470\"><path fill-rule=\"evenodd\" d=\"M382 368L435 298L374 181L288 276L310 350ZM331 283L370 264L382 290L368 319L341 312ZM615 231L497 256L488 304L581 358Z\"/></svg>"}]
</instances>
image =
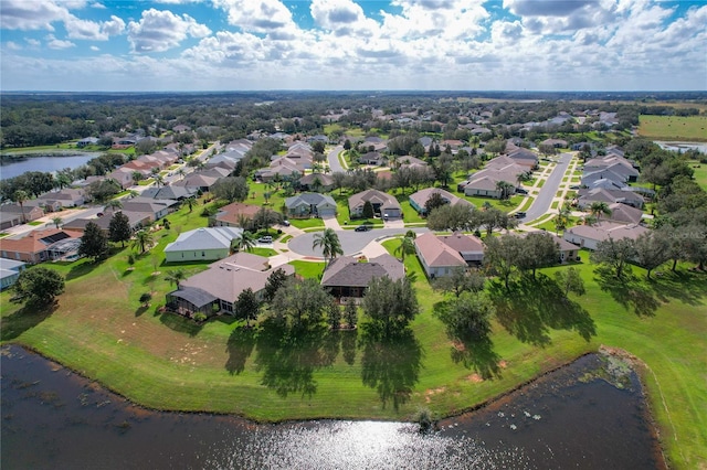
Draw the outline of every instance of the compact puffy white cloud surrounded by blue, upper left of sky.
<instances>
[{"instance_id":1,"label":"compact puffy white cloud surrounded by blue, upper left of sky","mask_svg":"<svg viewBox=\"0 0 707 470\"><path fill-rule=\"evenodd\" d=\"M144 11L139 22L128 23L128 41L134 52L163 52L179 46L187 39L204 38L211 30L188 14L154 8Z\"/></svg>"}]
</instances>

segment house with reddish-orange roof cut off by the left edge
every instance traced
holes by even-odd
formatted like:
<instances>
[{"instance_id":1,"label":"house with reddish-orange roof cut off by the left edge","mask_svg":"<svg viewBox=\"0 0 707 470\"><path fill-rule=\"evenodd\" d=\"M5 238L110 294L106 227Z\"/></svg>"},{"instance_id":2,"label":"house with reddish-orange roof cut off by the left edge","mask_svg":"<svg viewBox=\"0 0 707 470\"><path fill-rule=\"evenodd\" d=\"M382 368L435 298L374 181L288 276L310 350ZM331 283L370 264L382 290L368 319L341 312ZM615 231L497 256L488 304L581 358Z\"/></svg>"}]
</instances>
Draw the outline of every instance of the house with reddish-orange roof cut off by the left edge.
<instances>
[{"instance_id":1,"label":"house with reddish-orange roof cut off by the left edge","mask_svg":"<svg viewBox=\"0 0 707 470\"><path fill-rule=\"evenodd\" d=\"M0 256L31 264L42 263L75 254L80 244L78 235L68 231L33 231L20 238L0 238Z\"/></svg>"}]
</instances>

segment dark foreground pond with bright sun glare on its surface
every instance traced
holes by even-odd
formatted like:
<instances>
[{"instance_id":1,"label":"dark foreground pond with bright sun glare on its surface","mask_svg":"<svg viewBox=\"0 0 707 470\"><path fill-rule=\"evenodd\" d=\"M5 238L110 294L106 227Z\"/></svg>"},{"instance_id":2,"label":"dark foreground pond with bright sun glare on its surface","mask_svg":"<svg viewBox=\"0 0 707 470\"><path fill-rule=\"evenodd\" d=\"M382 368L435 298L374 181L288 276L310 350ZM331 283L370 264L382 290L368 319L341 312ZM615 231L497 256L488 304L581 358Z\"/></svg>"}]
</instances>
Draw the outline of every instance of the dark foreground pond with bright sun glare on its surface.
<instances>
[{"instance_id":1,"label":"dark foreground pond with bright sun glare on its surface","mask_svg":"<svg viewBox=\"0 0 707 470\"><path fill-rule=\"evenodd\" d=\"M587 355L421 435L404 423L257 425L158 413L18 346L2 349L3 469L663 469L635 373ZM599 372L598 372L599 371Z\"/></svg>"}]
</instances>

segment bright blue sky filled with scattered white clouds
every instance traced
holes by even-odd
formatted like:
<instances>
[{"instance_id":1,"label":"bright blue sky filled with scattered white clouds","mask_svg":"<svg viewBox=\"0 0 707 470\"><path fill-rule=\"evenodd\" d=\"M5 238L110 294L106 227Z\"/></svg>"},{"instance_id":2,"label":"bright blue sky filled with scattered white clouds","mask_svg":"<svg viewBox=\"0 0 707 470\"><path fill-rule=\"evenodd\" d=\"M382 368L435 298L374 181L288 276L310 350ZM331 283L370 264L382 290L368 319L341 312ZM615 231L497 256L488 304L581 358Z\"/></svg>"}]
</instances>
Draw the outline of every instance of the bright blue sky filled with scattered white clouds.
<instances>
[{"instance_id":1,"label":"bright blue sky filled with scattered white clouds","mask_svg":"<svg viewBox=\"0 0 707 470\"><path fill-rule=\"evenodd\" d=\"M705 90L707 0L0 0L0 90Z\"/></svg>"}]
</instances>

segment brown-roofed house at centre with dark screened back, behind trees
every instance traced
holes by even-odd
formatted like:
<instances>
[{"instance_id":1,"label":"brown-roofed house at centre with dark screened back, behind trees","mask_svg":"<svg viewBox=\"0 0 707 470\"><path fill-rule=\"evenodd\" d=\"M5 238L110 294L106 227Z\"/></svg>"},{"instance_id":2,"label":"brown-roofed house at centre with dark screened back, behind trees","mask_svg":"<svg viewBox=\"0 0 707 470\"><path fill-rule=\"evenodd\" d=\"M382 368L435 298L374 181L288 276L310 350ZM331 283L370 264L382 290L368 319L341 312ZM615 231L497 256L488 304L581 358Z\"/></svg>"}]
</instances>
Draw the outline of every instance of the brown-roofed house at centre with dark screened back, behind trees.
<instances>
[{"instance_id":1,"label":"brown-roofed house at centre with dark screened back, behind trees","mask_svg":"<svg viewBox=\"0 0 707 470\"><path fill-rule=\"evenodd\" d=\"M388 254L359 263L354 256L339 256L327 266L321 276L321 286L334 297L361 298L372 279L388 276L392 280L402 279L405 268Z\"/></svg>"}]
</instances>

